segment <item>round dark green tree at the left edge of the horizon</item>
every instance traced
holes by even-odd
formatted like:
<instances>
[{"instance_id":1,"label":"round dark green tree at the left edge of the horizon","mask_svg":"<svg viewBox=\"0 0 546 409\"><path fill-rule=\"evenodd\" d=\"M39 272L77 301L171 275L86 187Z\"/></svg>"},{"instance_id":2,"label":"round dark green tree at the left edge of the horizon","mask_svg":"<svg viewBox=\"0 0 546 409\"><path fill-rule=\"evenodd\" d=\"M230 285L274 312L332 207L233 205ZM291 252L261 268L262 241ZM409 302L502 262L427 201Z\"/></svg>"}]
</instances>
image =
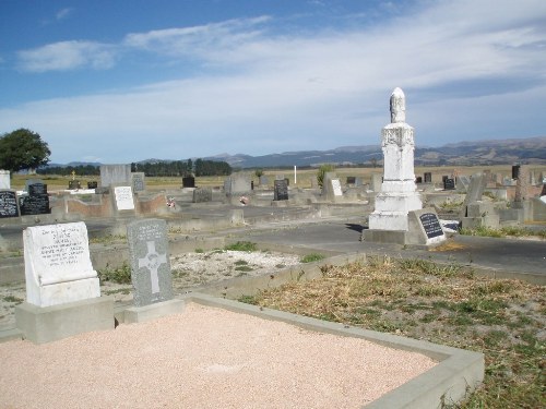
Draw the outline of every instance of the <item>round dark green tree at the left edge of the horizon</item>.
<instances>
[{"instance_id":1,"label":"round dark green tree at the left edge of the horizon","mask_svg":"<svg viewBox=\"0 0 546 409\"><path fill-rule=\"evenodd\" d=\"M0 169L16 172L47 165L51 151L36 132L17 129L0 136Z\"/></svg>"}]
</instances>

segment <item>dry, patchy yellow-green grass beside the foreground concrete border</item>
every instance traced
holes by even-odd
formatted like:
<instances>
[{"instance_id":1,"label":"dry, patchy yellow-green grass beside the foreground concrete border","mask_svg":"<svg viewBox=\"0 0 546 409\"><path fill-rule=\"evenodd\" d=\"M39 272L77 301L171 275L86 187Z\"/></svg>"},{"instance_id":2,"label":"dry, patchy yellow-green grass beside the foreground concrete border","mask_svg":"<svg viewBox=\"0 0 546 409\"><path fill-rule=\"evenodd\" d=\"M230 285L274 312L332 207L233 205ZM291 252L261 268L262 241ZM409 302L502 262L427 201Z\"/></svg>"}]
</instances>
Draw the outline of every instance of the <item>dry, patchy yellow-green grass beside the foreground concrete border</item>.
<instances>
[{"instance_id":1,"label":"dry, patchy yellow-green grass beside the foreground concrete border","mask_svg":"<svg viewBox=\"0 0 546 409\"><path fill-rule=\"evenodd\" d=\"M239 300L482 351L484 383L458 408L545 407L544 287L475 277L456 265L370 257Z\"/></svg>"}]
</instances>

